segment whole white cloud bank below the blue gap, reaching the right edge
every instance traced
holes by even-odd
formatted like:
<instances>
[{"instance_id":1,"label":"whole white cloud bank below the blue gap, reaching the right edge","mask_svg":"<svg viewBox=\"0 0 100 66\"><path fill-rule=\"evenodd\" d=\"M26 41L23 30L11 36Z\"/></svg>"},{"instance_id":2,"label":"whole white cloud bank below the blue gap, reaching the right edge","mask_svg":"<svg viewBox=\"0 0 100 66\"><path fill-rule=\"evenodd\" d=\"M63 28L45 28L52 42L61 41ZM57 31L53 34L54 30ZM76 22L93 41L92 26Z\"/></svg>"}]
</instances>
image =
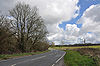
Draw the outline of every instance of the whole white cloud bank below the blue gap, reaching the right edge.
<instances>
[{"instance_id":1,"label":"whole white cloud bank below the blue gap, reaching the right edge","mask_svg":"<svg viewBox=\"0 0 100 66\"><path fill-rule=\"evenodd\" d=\"M66 30L60 33L65 43L83 43L83 39L87 43L100 42L100 5L90 6L78 23L82 24L81 28L76 24L67 24Z\"/></svg>"}]
</instances>

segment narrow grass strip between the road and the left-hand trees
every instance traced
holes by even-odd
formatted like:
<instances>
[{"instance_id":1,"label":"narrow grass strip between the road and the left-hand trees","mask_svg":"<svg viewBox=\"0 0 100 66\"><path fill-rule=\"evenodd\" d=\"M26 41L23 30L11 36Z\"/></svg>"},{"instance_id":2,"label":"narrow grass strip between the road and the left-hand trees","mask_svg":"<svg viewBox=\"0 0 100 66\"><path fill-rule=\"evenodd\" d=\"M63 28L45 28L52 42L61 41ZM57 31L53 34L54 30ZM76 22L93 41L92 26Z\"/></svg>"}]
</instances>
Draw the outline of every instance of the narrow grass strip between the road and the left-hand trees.
<instances>
[{"instance_id":1,"label":"narrow grass strip between the road and the left-hand trees","mask_svg":"<svg viewBox=\"0 0 100 66\"><path fill-rule=\"evenodd\" d=\"M30 52L30 53L18 53L18 54L0 54L0 60L9 59L9 58L17 58L17 57L22 57L22 56L29 56L29 55L36 55L36 54L41 54L48 51L49 50L42 51L42 52Z\"/></svg>"}]
</instances>

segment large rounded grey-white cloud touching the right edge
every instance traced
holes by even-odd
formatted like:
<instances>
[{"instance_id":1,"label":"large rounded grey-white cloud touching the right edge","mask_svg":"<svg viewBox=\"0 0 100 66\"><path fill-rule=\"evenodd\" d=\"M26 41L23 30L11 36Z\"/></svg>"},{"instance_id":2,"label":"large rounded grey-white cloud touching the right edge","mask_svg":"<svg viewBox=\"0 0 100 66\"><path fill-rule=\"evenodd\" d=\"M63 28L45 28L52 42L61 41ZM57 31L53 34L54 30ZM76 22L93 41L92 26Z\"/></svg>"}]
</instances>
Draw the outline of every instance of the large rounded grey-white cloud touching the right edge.
<instances>
[{"instance_id":1,"label":"large rounded grey-white cloud touching the right edge","mask_svg":"<svg viewBox=\"0 0 100 66\"><path fill-rule=\"evenodd\" d=\"M88 41L100 42L100 4L90 6L78 23L82 23L80 35L85 34ZM88 34L91 32L93 34Z\"/></svg>"}]
</instances>

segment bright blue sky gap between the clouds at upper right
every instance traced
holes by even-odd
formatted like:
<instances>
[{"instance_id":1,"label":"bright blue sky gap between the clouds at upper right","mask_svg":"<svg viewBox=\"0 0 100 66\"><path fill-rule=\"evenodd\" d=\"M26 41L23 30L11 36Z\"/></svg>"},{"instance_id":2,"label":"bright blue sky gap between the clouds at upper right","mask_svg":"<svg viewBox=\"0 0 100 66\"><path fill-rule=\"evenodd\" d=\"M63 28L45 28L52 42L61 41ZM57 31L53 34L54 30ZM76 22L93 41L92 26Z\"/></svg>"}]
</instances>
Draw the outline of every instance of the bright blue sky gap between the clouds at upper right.
<instances>
[{"instance_id":1,"label":"bright blue sky gap between the clouds at upper right","mask_svg":"<svg viewBox=\"0 0 100 66\"><path fill-rule=\"evenodd\" d=\"M81 18L84 11L88 9L91 5L100 4L100 0L79 0L77 6L80 7L79 15L76 18L72 18L69 21L64 21L62 24L59 24L60 28L66 29L66 24L76 24L77 21ZM77 11L76 11L77 13ZM82 24L76 24L78 28L81 28Z\"/></svg>"}]
</instances>

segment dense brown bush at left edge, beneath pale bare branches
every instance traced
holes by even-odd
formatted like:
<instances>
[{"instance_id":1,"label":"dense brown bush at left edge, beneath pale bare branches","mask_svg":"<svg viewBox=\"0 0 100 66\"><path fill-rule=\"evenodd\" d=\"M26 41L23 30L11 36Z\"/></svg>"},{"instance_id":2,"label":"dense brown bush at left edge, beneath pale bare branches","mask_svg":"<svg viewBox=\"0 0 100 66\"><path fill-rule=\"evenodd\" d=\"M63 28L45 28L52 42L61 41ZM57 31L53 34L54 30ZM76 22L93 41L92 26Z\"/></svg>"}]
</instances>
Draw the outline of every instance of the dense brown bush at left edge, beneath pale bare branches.
<instances>
[{"instance_id":1,"label":"dense brown bush at left edge, beneath pale bare branches","mask_svg":"<svg viewBox=\"0 0 100 66\"><path fill-rule=\"evenodd\" d=\"M10 33L10 30L0 28L0 54L12 54L16 51L17 40Z\"/></svg>"}]
</instances>

